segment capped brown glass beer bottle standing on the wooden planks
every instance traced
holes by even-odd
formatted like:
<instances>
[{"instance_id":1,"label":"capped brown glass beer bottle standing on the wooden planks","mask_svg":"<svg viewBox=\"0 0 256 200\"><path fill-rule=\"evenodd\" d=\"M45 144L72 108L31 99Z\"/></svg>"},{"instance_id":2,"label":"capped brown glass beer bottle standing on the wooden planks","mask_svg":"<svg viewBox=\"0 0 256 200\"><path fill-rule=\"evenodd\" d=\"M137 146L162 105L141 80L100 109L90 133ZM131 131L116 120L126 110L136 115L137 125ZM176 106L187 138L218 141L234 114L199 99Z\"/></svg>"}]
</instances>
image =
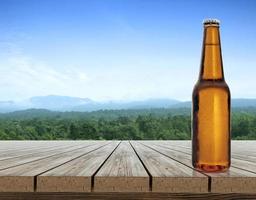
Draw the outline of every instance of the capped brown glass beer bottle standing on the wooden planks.
<instances>
[{"instance_id":1,"label":"capped brown glass beer bottle standing on the wooden planks","mask_svg":"<svg viewBox=\"0 0 256 200\"><path fill-rule=\"evenodd\" d=\"M200 75L192 95L192 164L207 172L230 167L230 91L218 20L204 21Z\"/></svg>"}]
</instances>

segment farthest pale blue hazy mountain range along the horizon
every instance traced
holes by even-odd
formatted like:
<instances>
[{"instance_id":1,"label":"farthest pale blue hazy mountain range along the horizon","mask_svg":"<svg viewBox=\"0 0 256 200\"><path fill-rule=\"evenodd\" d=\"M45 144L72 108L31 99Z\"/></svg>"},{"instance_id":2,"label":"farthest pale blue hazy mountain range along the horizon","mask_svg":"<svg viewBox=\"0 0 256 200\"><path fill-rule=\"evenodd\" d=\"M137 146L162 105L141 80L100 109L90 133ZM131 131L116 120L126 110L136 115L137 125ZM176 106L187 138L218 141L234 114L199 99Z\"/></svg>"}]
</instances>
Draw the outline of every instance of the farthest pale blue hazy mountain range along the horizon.
<instances>
[{"instance_id":1,"label":"farthest pale blue hazy mountain range along the horizon","mask_svg":"<svg viewBox=\"0 0 256 200\"><path fill-rule=\"evenodd\" d=\"M116 109L147 108L188 108L190 101L175 99L147 99L143 101L107 101L97 102L89 98L69 96L36 96L23 101L0 101L0 112L12 112L26 109L48 109L52 111L96 111ZM232 107L256 107L256 99L232 99Z\"/></svg>"}]
</instances>

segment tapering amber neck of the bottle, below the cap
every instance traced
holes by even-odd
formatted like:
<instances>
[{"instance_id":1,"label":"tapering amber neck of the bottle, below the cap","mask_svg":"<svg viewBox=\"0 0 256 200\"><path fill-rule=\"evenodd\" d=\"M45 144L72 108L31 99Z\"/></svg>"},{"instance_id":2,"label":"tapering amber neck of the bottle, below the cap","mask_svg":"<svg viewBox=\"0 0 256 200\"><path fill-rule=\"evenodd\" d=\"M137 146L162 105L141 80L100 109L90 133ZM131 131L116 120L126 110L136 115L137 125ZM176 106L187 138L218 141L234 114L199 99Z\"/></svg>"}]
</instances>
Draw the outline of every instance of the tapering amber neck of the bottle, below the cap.
<instances>
[{"instance_id":1,"label":"tapering amber neck of the bottle, below the cap","mask_svg":"<svg viewBox=\"0 0 256 200\"><path fill-rule=\"evenodd\" d=\"M218 26L204 27L204 41L199 80L224 81Z\"/></svg>"}]
</instances>

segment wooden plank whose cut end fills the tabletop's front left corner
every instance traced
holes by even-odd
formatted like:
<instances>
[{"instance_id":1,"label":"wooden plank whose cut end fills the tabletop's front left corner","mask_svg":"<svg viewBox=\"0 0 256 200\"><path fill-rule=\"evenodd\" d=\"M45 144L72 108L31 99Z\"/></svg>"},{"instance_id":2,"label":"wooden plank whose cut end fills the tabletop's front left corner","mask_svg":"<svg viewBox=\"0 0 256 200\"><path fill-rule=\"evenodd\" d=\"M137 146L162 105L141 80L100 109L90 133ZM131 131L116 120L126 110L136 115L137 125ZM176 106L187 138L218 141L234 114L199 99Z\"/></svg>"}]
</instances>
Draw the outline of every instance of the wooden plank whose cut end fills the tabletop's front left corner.
<instances>
[{"instance_id":1,"label":"wooden plank whose cut end fills the tabletop's front left corner","mask_svg":"<svg viewBox=\"0 0 256 200\"><path fill-rule=\"evenodd\" d=\"M33 192L34 188L36 188L35 176L79 158L104 145L106 145L106 142L99 142L91 146L87 145L84 148L1 170L0 192Z\"/></svg>"}]
</instances>

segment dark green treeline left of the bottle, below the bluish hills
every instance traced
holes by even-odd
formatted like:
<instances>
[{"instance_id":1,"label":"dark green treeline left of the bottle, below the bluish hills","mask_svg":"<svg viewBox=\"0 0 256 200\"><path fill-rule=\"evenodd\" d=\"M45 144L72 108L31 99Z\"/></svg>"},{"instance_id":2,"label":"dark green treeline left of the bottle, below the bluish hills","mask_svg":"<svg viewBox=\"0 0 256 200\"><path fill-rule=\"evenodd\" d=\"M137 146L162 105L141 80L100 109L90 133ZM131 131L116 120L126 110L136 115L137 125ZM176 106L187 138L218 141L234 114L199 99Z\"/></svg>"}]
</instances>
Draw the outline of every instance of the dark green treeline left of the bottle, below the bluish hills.
<instances>
[{"instance_id":1,"label":"dark green treeline left of the bottle, below the bluish hills","mask_svg":"<svg viewBox=\"0 0 256 200\"><path fill-rule=\"evenodd\" d=\"M189 139L189 116L0 120L0 139Z\"/></svg>"}]
</instances>

